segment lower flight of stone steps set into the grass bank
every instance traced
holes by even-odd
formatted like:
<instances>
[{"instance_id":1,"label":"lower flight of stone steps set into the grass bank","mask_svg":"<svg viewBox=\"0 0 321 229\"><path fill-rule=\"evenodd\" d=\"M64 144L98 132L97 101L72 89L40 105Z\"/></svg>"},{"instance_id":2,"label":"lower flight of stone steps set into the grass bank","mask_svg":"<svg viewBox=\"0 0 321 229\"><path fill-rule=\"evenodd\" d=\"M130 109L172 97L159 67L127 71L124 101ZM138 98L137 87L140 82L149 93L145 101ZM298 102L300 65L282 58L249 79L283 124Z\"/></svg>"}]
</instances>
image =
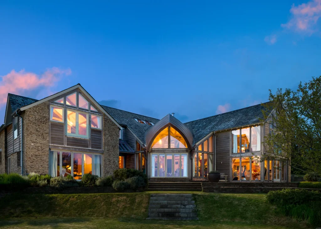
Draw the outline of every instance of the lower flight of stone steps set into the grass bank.
<instances>
[{"instance_id":1,"label":"lower flight of stone steps set into the grass bank","mask_svg":"<svg viewBox=\"0 0 321 229\"><path fill-rule=\"evenodd\" d=\"M198 220L193 195L151 194L146 219Z\"/></svg>"}]
</instances>

